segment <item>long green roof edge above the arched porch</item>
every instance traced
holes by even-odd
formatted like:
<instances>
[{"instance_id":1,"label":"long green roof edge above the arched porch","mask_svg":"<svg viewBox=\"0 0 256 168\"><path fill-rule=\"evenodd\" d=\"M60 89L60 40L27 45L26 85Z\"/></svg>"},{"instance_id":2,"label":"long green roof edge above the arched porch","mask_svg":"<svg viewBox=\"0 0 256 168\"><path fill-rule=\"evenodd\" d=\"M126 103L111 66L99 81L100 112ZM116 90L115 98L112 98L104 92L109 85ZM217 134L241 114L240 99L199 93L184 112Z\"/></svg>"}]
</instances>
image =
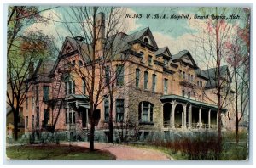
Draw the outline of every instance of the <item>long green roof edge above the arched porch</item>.
<instances>
[{"instance_id":1,"label":"long green roof edge above the arched porch","mask_svg":"<svg viewBox=\"0 0 256 168\"><path fill-rule=\"evenodd\" d=\"M204 102L199 102L199 101L196 101L196 100L193 100L193 99L190 99L190 98L185 98L185 97L182 97L182 96L178 96L178 95L175 95L175 94L164 95L160 98L160 101L162 103L166 103L166 102L171 101L171 100L177 100L177 102L188 103L188 104L195 105L197 107L203 107L203 108L207 108L207 109L215 109L215 110L218 109L217 105L207 104L207 103L204 103ZM226 112L227 109L222 109L222 111Z\"/></svg>"}]
</instances>

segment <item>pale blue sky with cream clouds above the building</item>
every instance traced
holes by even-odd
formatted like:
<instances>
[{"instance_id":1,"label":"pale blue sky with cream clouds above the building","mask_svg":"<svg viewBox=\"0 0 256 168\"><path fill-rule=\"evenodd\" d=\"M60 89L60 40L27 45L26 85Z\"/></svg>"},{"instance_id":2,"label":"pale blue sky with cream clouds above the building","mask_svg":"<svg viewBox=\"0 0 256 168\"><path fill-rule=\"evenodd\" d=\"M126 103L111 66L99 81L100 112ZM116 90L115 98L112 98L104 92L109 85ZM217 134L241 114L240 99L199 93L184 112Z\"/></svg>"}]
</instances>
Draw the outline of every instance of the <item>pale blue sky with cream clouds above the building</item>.
<instances>
[{"instance_id":1,"label":"pale blue sky with cream clouds above the building","mask_svg":"<svg viewBox=\"0 0 256 168\"><path fill-rule=\"evenodd\" d=\"M51 7L41 6L40 9ZM129 6L121 8L124 9L124 14L121 14L121 18L125 25L126 34L131 34L145 27L149 27L159 48L167 46L172 54L176 54L184 49L189 50L189 52L192 53L195 62L199 63L198 65L200 67L202 66L201 60L204 58L201 57L201 53L199 51L200 48L195 42L195 36L202 36L201 31L199 30L201 27L205 27L205 20L195 19L195 15L207 16L209 14L208 17L211 17L212 11L215 10L212 10L212 8L204 8L204 10L201 10L199 7L174 6ZM240 27L244 27L246 24L245 15L243 9L240 9L239 19L227 21L232 21L232 23L237 24ZM218 8L218 10L220 10L220 8ZM74 34L71 35L69 31L67 31L66 26L62 23L65 19L73 22L73 19L68 16L68 12L70 12L70 8L68 6L58 6L57 8L45 11L42 15L45 18L50 19L48 24L38 23L30 25L27 31L40 30L44 34L54 36L57 46L61 48L61 44L64 42L66 36L79 35L79 31L73 31ZM234 8L228 8L224 15L229 17L233 12ZM159 14L159 17L155 14ZM181 17L189 15L189 17L177 19L175 18L177 15Z\"/></svg>"}]
</instances>

